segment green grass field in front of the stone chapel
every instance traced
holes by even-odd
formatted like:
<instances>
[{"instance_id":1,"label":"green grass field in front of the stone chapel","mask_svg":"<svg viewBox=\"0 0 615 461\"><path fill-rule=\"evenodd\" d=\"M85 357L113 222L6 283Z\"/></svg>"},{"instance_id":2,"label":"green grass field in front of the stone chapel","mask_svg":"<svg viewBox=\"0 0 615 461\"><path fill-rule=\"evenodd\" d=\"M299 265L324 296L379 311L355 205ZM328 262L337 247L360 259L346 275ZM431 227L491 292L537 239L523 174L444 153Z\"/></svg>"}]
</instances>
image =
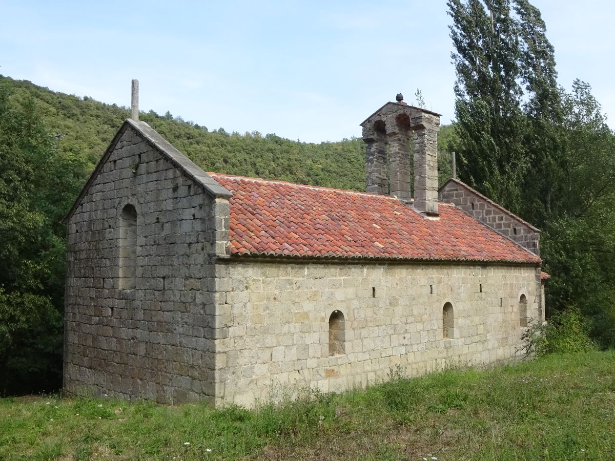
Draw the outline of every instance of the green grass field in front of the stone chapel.
<instances>
[{"instance_id":1,"label":"green grass field in front of the stone chapel","mask_svg":"<svg viewBox=\"0 0 615 461\"><path fill-rule=\"evenodd\" d=\"M4 398L0 459L615 459L614 352L392 377L255 411Z\"/></svg>"}]
</instances>

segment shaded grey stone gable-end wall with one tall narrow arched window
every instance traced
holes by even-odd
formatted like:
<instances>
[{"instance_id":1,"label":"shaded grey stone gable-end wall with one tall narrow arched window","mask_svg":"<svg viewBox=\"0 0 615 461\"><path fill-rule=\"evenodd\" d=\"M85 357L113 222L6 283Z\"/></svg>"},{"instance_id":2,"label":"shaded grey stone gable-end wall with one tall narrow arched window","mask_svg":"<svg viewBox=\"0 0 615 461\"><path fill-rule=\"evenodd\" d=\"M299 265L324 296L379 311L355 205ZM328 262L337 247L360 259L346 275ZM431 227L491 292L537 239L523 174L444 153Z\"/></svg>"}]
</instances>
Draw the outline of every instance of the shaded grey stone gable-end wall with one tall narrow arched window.
<instances>
[{"instance_id":1,"label":"shaded grey stone gable-end wall with one tall narrow arched window","mask_svg":"<svg viewBox=\"0 0 615 461\"><path fill-rule=\"evenodd\" d=\"M228 231L220 217L228 201L205 193L128 122L122 130L68 223L65 390L213 401L219 332L210 263L216 224ZM127 204L137 211L135 280L121 285Z\"/></svg>"}]
</instances>

